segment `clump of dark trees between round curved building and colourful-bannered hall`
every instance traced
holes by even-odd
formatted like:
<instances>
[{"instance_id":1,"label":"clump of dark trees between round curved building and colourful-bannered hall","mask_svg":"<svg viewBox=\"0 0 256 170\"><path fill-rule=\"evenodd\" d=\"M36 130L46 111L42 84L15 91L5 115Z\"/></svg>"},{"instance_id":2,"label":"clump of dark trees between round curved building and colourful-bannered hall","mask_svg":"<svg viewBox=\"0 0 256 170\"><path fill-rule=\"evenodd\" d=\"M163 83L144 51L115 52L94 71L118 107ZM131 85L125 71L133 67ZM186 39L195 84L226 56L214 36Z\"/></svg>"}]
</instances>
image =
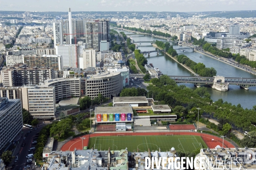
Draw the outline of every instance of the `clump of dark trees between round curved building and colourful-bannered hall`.
<instances>
[{"instance_id":1,"label":"clump of dark trees between round curved building and colourful-bannered hall","mask_svg":"<svg viewBox=\"0 0 256 170\"><path fill-rule=\"evenodd\" d=\"M99 105L105 103L109 100L108 97L102 96L101 93L98 94L98 97L91 99L89 96L85 96L79 100L81 110L90 108L91 105Z\"/></svg>"}]
</instances>

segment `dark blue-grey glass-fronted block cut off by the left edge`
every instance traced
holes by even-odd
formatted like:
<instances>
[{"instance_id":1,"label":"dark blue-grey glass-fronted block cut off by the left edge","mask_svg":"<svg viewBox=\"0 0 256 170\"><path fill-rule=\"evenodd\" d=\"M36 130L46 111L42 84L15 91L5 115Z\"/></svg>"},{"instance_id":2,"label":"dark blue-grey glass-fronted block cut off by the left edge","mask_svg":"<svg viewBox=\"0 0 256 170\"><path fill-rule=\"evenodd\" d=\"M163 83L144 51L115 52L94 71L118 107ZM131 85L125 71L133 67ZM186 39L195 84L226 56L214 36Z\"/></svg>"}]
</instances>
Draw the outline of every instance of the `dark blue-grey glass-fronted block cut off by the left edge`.
<instances>
[{"instance_id":1,"label":"dark blue-grey glass-fronted block cut off by the left edge","mask_svg":"<svg viewBox=\"0 0 256 170\"><path fill-rule=\"evenodd\" d=\"M20 99L0 98L0 150L15 136L21 134L23 127L22 105Z\"/></svg>"}]
</instances>

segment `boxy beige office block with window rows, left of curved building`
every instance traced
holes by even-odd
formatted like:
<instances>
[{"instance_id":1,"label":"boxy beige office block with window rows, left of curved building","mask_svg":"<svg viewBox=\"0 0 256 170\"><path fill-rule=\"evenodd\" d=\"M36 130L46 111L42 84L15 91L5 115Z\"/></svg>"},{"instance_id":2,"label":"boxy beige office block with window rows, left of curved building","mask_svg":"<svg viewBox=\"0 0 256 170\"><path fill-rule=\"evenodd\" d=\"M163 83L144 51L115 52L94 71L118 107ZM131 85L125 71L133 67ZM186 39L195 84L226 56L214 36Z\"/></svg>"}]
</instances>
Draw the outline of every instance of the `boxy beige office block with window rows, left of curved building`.
<instances>
[{"instance_id":1,"label":"boxy beige office block with window rows, left of curved building","mask_svg":"<svg viewBox=\"0 0 256 170\"><path fill-rule=\"evenodd\" d=\"M22 90L23 108L29 111L34 119L54 119L55 87L54 86L24 86Z\"/></svg>"}]
</instances>

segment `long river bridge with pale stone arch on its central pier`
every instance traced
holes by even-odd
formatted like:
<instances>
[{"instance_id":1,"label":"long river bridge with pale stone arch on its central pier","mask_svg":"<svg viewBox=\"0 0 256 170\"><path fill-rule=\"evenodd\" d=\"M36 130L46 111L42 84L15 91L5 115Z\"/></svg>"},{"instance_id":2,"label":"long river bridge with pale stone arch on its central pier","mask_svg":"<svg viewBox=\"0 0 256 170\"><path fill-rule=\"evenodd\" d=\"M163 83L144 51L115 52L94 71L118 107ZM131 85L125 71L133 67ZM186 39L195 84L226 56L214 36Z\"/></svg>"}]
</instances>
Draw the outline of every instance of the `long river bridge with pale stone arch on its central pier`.
<instances>
[{"instance_id":1,"label":"long river bridge with pale stone arch on its central pier","mask_svg":"<svg viewBox=\"0 0 256 170\"><path fill-rule=\"evenodd\" d=\"M218 91L228 91L229 85L239 85L245 90L249 87L256 86L256 79L253 78L237 78L237 77L188 77L188 76L169 76L176 83L192 83L197 87L201 85L209 85Z\"/></svg>"}]
</instances>

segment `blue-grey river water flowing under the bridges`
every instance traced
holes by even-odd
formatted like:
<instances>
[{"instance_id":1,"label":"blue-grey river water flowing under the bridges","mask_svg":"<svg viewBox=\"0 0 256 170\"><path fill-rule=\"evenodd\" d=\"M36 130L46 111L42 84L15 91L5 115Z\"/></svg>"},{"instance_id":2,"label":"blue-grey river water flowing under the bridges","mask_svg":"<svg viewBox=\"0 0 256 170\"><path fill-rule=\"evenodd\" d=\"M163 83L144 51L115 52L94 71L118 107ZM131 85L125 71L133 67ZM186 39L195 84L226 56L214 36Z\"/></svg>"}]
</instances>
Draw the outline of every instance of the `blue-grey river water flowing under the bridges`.
<instances>
[{"instance_id":1,"label":"blue-grey river water flowing under the bridges","mask_svg":"<svg viewBox=\"0 0 256 170\"><path fill-rule=\"evenodd\" d=\"M119 31L119 30L116 30ZM131 37L134 41L166 41L166 39L152 37L152 36L144 36L142 34L134 34L128 31L123 31L125 34L133 34ZM173 45L173 48L177 48L178 45L176 43L170 42ZM150 42L141 42L137 43L138 49L141 51L152 51L155 48L151 45ZM256 75L250 74L248 72L242 71L238 68L235 68L231 65L227 65L221 61L213 59L211 57L207 57L198 52L194 52L192 50L186 50L185 52L177 50L178 54L184 54L195 62L202 62L206 67L213 67L217 71L217 75L224 77L246 77L246 78L256 78ZM199 57L201 55L201 57ZM191 72L186 68L181 66L171 57L160 53L151 53L150 57L145 55L148 59L148 64L152 63L154 67L159 68L163 74L167 74L169 76L192 76ZM179 84L180 85L180 84ZM189 88L195 89L196 87L193 84L184 84ZM211 98L213 101L218 99L223 99L223 101L227 101L232 103L232 105L241 104L243 108L251 109L253 105L256 105L256 87L250 87L249 90L244 90L237 85L230 85L229 91L217 91L211 87L207 88L209 93L211 94Z\"/></svg>"}]
</instances>

